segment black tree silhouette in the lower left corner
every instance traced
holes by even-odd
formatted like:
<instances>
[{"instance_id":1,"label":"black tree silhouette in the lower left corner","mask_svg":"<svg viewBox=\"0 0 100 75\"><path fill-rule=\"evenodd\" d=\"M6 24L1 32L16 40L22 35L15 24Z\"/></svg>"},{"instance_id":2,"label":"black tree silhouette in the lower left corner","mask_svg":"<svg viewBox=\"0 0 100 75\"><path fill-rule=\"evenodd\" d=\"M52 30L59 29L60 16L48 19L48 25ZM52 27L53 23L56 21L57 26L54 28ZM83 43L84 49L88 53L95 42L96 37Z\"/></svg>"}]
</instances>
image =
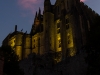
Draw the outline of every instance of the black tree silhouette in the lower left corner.
<instances>
[{"instance_id":1,"label":"black tree silhouette in the lower left corner","mask_svg":"<svg viewBox=\"0 0 100 75\"><path fill-rule=\"evenodd\" d=\"M4 74L7 75L23 75L19 68L18 56L10 46L2 46L0 50L4 55Z\"/></svg>"}]
</instances>

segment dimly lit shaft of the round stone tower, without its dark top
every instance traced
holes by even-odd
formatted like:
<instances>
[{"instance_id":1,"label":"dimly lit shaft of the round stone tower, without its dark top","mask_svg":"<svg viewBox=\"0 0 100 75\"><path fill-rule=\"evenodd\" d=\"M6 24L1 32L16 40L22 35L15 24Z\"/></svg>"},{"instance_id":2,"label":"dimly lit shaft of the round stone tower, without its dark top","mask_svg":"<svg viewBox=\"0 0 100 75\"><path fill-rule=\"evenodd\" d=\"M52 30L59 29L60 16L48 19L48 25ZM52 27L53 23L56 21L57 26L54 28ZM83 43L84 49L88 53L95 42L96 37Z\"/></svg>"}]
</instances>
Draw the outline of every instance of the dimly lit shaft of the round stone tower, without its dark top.
<instances>
[{"instance_id":1,"label":"dimly lit shaft of the round stone tower, without its dark top","mask_svg":"<svg viewBox=\"0 0 100 75\"><path fill-rule=\"evenodd\" d=\"M43 25L45 52L55 51L54 14L45 12L43 15Z\"/></svg>"}]
</instances>

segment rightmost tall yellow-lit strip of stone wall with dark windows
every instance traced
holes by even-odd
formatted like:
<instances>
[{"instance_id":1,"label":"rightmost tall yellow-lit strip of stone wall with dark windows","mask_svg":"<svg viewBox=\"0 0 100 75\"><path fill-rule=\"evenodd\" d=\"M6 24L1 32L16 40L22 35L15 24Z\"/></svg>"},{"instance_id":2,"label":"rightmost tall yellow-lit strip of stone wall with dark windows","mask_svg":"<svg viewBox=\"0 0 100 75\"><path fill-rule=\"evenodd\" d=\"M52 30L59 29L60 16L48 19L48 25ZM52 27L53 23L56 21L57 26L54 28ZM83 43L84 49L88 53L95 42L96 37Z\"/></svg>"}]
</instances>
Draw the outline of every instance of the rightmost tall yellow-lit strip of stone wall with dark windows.
<instances>
[{"instance_id":1,"label":"rightmost tall yellow-lit strip of stone wall with dark windows","mask_svg":"<svg viewBox=\"0 0 100 75\"><path fill-rule=\"evenodd\" d=\"M71 15L65 16L65 27L66 27L66 49L68 56L74 56L76 54L75 45L74 45L74 31L73 31L73 19L70 18Z\"/></svg>"}]
</instances>

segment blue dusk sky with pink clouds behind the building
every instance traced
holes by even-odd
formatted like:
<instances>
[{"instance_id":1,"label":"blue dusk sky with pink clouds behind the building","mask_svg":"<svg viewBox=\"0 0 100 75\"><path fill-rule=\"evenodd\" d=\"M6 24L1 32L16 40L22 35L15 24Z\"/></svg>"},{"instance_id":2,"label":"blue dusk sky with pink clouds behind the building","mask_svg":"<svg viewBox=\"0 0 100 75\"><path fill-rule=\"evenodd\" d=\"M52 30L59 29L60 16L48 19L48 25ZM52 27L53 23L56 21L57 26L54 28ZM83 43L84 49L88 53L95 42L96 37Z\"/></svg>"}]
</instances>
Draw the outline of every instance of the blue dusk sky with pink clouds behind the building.
<instances>
[{"instance_id":1,"label":"blue dusk sky with pink clouds behind the building","mask_svg":"<svg viewBox=\"0 0 100 75\"><path fill-rule=\"evenodd\" d=\"M54 4L56 0L51 0ZM100 14L100 0L82 0ZM0 0L0 46L3 39L14 31L15 25L18 31L31 30L35 12L39 7L43 10L44 0Z\"/></svg>"}]
</instances>

